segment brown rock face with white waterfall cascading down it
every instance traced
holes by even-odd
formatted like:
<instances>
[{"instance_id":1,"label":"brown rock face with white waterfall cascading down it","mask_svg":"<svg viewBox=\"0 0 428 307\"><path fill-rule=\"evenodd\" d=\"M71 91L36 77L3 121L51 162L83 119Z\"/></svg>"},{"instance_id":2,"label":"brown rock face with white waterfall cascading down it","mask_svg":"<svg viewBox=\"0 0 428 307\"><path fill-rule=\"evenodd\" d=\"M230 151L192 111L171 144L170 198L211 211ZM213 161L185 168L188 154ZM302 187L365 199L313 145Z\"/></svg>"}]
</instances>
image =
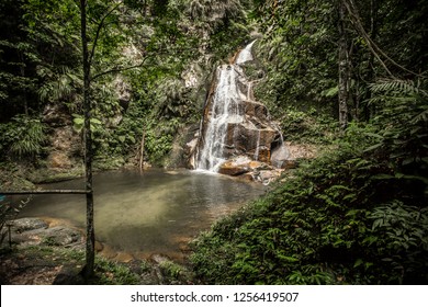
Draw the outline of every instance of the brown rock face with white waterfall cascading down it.
<instances>
[{"instance_id":1,"label":"brown rock face with white waterfall cascading down it","mask_svg":"<svg viewBox=\"0 0 428 307\"><path fill-rule=\"evenodd\" d=\"M243 65L252 60L249 44L229 65L217 68L205 102L200 137L195 145L196 169L236 174L237 157L267 164L282 164L288 151L277 124L267 107L255 100L254 81L245 75ZM239 164L239 163L238 163Z\"/></svg>"}]
</instances>

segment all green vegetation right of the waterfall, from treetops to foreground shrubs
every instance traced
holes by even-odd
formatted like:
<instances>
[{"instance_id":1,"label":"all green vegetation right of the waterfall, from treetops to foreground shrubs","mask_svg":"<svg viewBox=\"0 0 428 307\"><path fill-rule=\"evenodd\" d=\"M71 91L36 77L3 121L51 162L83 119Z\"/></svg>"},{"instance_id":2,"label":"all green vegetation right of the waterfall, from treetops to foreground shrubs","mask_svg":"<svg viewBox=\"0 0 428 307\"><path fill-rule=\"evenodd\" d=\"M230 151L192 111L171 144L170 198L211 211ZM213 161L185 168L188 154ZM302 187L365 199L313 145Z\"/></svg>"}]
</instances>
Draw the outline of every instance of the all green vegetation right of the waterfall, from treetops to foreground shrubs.
<instances>
[{"instance_id":1,"label":"all green vegetation right of the waterfall, from treetops to foreground shrubs","mask_svg":"<svg viewBox=\"0 0 428 307\"><path fill-rule=\"evenodd\" d=\"M329 144L316 135L328 121L315 116L336 113L340 95L343 130L320 157L202 235L194 270L216 284L426 284L428 3L255 2L268 33L258 94L291 128L284 135Z\"/></svg>"}]
</instances>

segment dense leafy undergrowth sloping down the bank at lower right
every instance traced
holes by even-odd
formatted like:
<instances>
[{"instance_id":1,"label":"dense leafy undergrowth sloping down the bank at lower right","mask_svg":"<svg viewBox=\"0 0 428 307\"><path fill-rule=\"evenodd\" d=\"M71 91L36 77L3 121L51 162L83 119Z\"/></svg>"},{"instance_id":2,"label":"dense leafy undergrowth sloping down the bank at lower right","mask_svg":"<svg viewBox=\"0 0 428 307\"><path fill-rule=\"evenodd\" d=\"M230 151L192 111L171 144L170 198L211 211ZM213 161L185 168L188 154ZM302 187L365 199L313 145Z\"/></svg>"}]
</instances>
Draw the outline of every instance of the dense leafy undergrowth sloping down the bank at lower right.
<instances>
[{"instance_id":1,"label":"dense leafy undergrowth sloping down the bank at lower right","mask_svg":"<svg viewBox=\"0 0 428 307\"><path fill-rule=\"evenodd\" d=\"M397 91L319 158L194 241L213 284L426 284L427 95ZM380 95L380 93L379 93Z\"/></svg>"}]
</instances>

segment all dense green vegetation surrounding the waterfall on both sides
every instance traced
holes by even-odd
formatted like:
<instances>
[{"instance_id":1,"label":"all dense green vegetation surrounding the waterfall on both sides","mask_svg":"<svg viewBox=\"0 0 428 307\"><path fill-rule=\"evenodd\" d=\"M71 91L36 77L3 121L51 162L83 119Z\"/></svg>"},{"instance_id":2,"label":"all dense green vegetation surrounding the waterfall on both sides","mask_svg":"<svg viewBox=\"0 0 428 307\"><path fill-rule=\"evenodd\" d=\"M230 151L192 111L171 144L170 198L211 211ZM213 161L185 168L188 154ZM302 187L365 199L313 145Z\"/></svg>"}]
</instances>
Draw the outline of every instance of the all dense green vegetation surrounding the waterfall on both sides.
<instances>
[{"instance_id":1,"label":"all dense green vegetation surrounding the waterfall on both sides","mask_svg":"<svg viewBox=\"0 0 428 307\"><path fill-rule=\"evenodd\" d=\"M198 277L426 284L427 15L426 0L89 0L97 166L143 145L153 164L182 163L172 147L198 127L213 68L257 37L257 99L285 139L325 151L203 234ZM79 22L72 0L0 3L2 186L59 149L81 167Z\"/></svg>"}]
</instances>

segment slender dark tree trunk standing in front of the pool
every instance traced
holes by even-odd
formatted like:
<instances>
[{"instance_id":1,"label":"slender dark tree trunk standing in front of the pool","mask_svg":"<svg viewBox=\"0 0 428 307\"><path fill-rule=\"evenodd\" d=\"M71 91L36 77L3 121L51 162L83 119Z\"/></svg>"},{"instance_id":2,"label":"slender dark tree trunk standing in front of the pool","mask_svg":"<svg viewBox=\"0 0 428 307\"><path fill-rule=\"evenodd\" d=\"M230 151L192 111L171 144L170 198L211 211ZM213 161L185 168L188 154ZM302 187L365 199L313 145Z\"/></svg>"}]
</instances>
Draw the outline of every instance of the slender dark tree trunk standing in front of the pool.
<instances>
[{"instance_id":1,"label":"slender dark tree trunk standing in front of the pool","mask_svg":"<svg viewBox=\"0 0 428 307\"><path fill-rule=\"evenodd\" d=\"M93 275L95 259L95 235L93 227L93 190L92 190L92 135L91 135L91 100L90 100L90 73L91 67L88 52L87 37L87 0L80 0L80 24L83 56L83 112L85 112L85 169L87 190L87 249L85 276Z\"/></svg>"}]
</instances>

